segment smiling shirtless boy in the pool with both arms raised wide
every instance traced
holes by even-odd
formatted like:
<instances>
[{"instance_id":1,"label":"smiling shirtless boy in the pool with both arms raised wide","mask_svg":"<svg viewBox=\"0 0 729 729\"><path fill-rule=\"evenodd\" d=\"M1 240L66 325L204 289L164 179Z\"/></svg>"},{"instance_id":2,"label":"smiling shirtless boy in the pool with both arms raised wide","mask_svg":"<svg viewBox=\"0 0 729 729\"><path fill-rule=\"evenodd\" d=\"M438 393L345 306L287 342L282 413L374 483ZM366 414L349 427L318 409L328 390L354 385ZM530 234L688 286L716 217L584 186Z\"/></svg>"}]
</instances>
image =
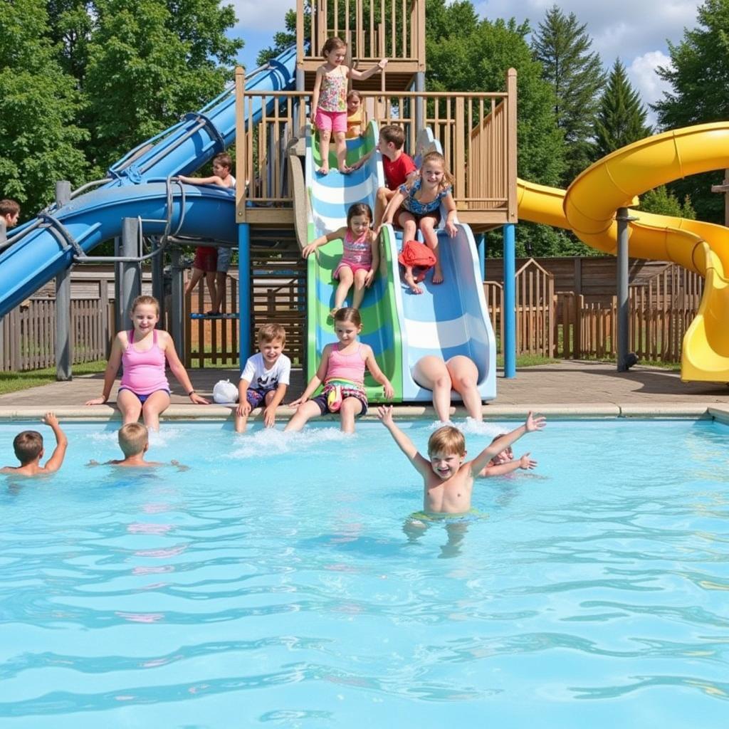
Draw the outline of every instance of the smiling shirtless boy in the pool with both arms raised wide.
<instances>
[{"instance_id":1,"label":"smiling shirtless boy in the pool with both arms raised wide","mask_svg":"<svg viewBox=\"0 0 729 729\"><path fill-rule=\"evenodd\" d=\"M466 459L466 439L451 425L432 433L428 440L428 459L418 453L413 441L392 420L392 408L378 408L378 418L389 430L399 449L423 477L423 511L426 514L463 514L471 508L473 480L480 475L489 461L508 448L525 433L541 430L545 418L534 418L531 413L526 422L512 432L496 438L472 461Z\"/></svg>"}]
</instances>

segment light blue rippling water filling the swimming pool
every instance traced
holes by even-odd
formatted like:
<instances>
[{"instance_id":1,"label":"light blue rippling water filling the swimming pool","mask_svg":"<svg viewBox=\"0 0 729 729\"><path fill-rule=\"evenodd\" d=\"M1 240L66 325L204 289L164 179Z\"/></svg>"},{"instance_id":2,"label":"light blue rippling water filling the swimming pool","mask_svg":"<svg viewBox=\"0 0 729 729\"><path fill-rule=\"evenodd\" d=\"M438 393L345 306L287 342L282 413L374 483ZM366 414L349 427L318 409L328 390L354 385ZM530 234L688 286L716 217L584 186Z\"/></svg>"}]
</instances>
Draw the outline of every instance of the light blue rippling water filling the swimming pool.
<instances>
[{"instance_id":1,"label":"light blue rippling water filling the swimming pool","mask_svg":"<svg viewBox=\"0 0 729 729\"><path fill-rule=\"evenodd\" d=\"M149 457L191 469L145 474L84 467L103 427L0 477L2 727L726 725L727 426L550 422L515 445L536 471L416 542L380 424L165 424Z\"/></svg>"}]
</instances>

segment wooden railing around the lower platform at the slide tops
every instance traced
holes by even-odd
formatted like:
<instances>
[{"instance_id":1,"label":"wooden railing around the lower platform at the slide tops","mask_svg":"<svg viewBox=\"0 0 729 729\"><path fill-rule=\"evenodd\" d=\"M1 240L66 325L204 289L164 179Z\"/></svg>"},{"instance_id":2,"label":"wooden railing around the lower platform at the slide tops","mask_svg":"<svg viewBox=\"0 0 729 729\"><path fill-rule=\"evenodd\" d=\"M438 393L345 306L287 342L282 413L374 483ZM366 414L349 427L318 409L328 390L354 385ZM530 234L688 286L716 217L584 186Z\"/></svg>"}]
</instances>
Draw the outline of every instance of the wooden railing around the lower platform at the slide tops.
<instances>
[{"instance_id":1,"label":"wooden railing around the lower platform at the slide tops","mask_svg":"<svg viewBox=\"0 0 729 729\"><path fill-rule=\"evenodd\" d=\"M249 92L242 77L238 85L239 120L262 109L257 124L238 125L236 173L248 184L239 184L236 190L237 219L245 222L248 203L292 206L286 145L303 132L311 95ZM507 91L502 93L363 92L362 96L368 118L380 125L402 126L405 151L411 155L416 154L418 122L432 130L456 180L453 198L459 210L500 212L505 217L501 222L512 222L517 203L515 88L515 72L510 71Z\"/></svg>"}]
</instances>

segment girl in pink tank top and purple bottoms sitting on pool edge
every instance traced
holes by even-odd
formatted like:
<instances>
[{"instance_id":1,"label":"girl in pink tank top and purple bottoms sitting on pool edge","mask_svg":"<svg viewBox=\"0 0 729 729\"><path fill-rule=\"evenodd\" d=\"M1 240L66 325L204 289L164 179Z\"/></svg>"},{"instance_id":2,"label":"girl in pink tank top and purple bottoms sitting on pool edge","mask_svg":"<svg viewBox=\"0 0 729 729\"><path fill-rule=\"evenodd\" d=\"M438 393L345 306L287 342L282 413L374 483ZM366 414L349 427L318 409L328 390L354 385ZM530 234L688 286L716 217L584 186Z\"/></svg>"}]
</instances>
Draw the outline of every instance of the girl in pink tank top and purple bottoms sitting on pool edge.
<instances>
[{"instance_id":1,"label":"girl in pink tank top and purple bottoms sitting on pool edge","mask_svg":"<svg viewBox=\"0 0 729 729\"><path fill-rule=\"evenodd\" d=\"M132 303L133 330L119 332L114 339L109 364L104 372L101 397L88 400L86 405L104 405L112 392L119 365L124 366L117 394L117 407L124 424L136 423L141 414L144 424L160 429L160 414L170 405L170 385L165 377L165 359L187 396L197 405L208 405L195 393L187 370L179 360L170 335L155 325L160 320L160 305L153 296L138 296Z\"/></svg>"}]
</instances>

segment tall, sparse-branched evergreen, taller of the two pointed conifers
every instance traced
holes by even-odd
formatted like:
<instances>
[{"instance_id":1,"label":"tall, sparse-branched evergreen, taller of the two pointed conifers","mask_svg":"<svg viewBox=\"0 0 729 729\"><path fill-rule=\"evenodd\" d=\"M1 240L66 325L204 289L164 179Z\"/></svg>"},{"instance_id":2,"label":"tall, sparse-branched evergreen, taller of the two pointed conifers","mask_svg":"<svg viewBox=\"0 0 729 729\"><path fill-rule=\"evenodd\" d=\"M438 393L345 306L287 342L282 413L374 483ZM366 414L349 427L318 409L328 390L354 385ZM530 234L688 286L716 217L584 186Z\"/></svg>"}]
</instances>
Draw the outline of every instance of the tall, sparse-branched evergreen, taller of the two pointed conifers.
<instances>
[{"instance_id":1,"label":"tall, sparse-branched evergreen, taller of the two pointed conifers","mask_svg":"<svg viewBox=\"0 0 729 729\"><path fill-rule=\"evenodd\" d=\"M534 58L553 89L557 125L564 132L569 159L561 182L569 184L593 161L590 136L604 83L600 56L590 52L592 39L571 12L553 5L534 34Z\"/></svg>"}]
</instances>

